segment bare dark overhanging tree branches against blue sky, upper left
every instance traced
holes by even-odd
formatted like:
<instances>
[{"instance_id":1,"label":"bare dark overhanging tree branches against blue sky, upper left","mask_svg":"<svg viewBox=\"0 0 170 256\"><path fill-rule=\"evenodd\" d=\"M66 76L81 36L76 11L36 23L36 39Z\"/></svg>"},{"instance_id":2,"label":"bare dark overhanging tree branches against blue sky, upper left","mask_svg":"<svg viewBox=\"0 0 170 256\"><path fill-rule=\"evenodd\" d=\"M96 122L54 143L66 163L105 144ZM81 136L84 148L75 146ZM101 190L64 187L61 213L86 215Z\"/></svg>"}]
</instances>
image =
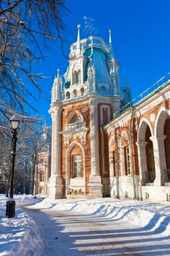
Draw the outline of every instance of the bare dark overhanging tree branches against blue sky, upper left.
<instances>
[{"instance_id":1,"label":"bare dark overhanging tree branches against blue sky, upper left","mask_svg":"<svg viewBox=\"0 0 170 256\"><path fill-rule=\"evenodd\" d=\"M42 94L37 79L43 76L34 74L32 67L34 61L44 58L42 45L46 45L47 39L59 39L63 45L62 18L68 13L63 0L0 1L1 113L7 113L7 104L18 112L24 111L24 105L34 109L26 97L36 96L26 83Z\"/></svg>"}]
</instances>

